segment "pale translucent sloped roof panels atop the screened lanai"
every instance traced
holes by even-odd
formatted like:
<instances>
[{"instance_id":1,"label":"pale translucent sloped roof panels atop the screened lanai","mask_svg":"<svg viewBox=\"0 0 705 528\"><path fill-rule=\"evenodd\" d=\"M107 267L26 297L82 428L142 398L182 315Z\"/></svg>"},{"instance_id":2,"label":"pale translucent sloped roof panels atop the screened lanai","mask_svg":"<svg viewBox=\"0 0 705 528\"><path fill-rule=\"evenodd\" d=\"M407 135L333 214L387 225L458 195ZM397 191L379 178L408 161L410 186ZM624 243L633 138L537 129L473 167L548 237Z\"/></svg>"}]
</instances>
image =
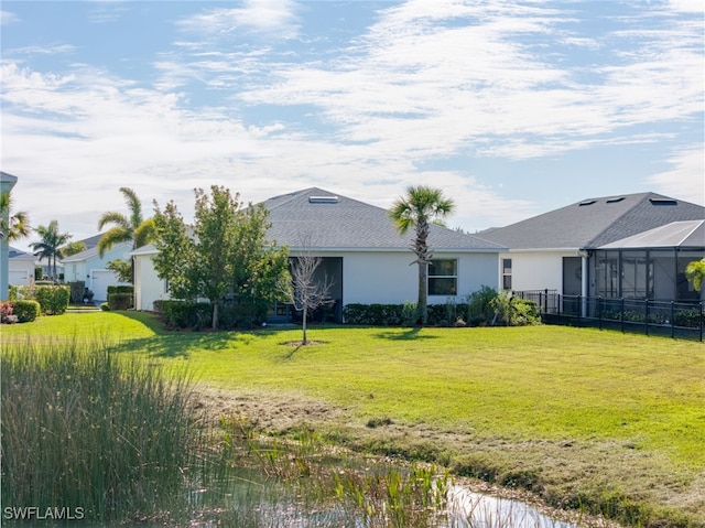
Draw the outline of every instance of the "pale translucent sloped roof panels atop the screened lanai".
<instances>
[{"instance_id":1,"label":"pale translucent sloped roof panels atop the screened lanai","mask_svg":"<svg viewBox=\"0 0 705 528\"><path fill-rule=\"evenodd\" d=\"M631 237L601 246L599 249L705 248L705 219L672 222Z\"/></svg>"}]
</instances>

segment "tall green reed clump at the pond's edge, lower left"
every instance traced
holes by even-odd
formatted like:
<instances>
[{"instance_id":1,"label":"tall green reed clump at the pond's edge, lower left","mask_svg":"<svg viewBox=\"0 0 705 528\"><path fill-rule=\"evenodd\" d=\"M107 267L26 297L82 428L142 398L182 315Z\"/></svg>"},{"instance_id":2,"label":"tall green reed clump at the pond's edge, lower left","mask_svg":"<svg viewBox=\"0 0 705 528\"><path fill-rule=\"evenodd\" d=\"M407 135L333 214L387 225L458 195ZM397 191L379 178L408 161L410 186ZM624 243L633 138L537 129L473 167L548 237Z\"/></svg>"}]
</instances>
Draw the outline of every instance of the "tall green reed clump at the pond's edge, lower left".
<instances>
[{"instance_id":1,"label":"tall green reed clump at the pond's edge, lower left","mask_svg":"<svg viewBox=\"0 0 705 528\"><path fill-rule=\"evenodd\" d=\"M188 378L163 374L97 344L7 347L3 507L70 508L89 521L165 511L197 468L202 428Z\"/></svg>"}]
</instances>

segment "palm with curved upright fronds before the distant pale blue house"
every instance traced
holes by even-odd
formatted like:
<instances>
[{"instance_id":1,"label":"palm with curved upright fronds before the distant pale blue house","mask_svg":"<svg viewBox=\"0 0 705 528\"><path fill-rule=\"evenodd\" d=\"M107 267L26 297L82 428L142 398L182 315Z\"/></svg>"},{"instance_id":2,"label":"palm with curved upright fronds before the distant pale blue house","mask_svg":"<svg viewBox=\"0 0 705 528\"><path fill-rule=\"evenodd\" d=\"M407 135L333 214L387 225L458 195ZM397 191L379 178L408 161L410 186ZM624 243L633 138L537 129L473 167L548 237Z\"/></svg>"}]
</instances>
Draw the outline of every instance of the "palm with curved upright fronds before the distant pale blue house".
<instances>
[{"instance_id":1,"label":"palm with curved upright fronds before the distant pale blue house","mask_svg":"<svg viewBox=\"0 0 705 528\"><path fill-rule=\"evenodd\" d=\"M122 213L108 212L100 217L98 229L102 229L108 224L113 224L98 240L98 255L100 257L116 244L131 241L132 249L137 249L152 240L154 220L152 218L143 219L140 198L129 187L120 187L120 192L128 204L130 216L127 217ZM130 266L133 267L134 265L130 262ZM131 271L131 277L134 283L134 269Z\"/></svg>"}]
</instances>

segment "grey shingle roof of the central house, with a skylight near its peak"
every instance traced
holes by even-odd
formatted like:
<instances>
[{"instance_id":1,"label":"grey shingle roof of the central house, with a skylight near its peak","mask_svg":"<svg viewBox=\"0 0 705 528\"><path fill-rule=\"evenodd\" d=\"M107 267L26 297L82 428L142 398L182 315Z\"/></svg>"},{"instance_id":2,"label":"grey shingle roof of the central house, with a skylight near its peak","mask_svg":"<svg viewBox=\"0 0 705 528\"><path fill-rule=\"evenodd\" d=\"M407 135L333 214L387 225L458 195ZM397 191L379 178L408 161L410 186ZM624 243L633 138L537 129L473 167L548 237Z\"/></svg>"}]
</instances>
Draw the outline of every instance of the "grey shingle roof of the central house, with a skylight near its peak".
<instances>
[{"instance_id":1,"label":"grey shingle roof of the central house, with a skylight near its peak","mask_svg":"<svg viewBox=\"0 0 705 528\"><path fill-rule=\"evenodd\" d=\"M270 213L268 238L291 249L410 250L412 233L399 235L386 209L318 187L282 194L262 204ZM308 243L306 237L311 239ZM432 225L429 244L445 251L503 251L499 244Z\"/></svg>"}]
</instances>

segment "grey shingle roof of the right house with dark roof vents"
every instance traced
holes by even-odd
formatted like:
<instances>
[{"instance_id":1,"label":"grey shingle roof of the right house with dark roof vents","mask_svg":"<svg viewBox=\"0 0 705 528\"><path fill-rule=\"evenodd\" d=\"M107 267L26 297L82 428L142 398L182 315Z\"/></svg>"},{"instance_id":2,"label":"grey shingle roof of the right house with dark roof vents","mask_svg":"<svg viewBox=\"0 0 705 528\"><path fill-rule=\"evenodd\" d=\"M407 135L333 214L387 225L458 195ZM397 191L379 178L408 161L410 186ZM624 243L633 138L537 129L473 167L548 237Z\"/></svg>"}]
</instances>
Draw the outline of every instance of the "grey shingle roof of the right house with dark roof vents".
<instances>
[{"instance_id":1,"label":"grey shingle roof of the right house with dark roof vents","mask_svg":"<svg viewBox=\"0 0 705 528\"><path fill-rule=\"evenodd\" d=\"M672 222L705 218L705 207L655 193L583 200L481 234L511 249L596 249Z\"/></svg>"}]
</instances>

